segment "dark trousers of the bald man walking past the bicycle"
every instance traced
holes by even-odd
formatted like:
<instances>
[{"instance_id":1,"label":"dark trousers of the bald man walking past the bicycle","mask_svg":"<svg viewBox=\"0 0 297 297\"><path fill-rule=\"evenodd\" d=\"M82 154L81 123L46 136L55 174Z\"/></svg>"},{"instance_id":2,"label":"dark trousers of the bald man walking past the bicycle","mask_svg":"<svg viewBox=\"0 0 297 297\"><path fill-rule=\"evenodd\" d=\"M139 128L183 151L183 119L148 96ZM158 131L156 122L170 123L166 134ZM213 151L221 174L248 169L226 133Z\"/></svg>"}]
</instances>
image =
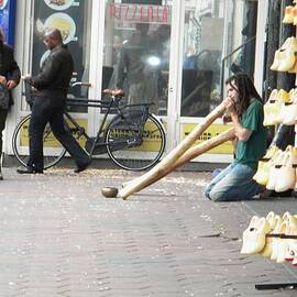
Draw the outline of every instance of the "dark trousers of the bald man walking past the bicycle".
<instances>
[{"instance_id":1,"label":"dark trousers of the bald man walking past the bicycle","mask_svg":"<svg viewBox=\"0 0 297 297\"><path fill-rule=\"evenodd\" d=\"M43 132L47 122L51 124L56 139L74 157L78 167L89 163L87 153L79 146L70 132L64 128L63 110L63 103L53 102L53 99L48 97L35 98L29 124L29 167L43 170Z\"/></svg>"}]
</instances>

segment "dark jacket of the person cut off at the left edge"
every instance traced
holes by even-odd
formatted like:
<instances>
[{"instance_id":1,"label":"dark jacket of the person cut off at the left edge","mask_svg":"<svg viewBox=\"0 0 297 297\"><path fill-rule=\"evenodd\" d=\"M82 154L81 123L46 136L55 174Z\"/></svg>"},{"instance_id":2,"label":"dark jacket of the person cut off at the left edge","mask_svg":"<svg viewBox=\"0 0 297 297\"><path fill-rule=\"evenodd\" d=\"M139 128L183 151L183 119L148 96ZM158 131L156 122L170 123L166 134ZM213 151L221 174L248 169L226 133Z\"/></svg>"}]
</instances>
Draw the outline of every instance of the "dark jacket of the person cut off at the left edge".
<instances>
[{"instance_id":1,"label":"dark jacket of the person cut off at the left edge","mask_svg":"<svg viewBox=\"0 0 297 297\"><path fill-rule=\"evenodd\" d=\"M7 80L14 80L16 85L21 79L21 72L13 56L13 48L2 42L0 42L0 75L4 76ZM13 105L11 92L9 105Z\"/></svg>"}]
</instances>

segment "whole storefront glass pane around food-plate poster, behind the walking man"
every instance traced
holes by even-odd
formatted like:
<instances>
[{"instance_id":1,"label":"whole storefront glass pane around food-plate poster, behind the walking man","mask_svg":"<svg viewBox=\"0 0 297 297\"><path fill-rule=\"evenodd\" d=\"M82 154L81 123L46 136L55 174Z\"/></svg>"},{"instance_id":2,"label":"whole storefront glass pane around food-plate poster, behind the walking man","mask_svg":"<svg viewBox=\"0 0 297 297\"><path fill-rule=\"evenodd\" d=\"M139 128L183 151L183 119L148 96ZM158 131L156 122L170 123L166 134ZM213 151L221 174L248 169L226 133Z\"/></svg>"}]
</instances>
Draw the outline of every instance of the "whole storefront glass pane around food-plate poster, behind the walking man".
<instances>
[{"instance_id":1,"label":"whole storefront glass pane around food-plate poster, behind the walking man","mask_svg":"<svg viewBox=\"0 0 297 297\"><path fill-rule=\"evenodd\" d=\"M35 0L34 35L32 48L32 74L36 75L50 51L43 43L44 33L57 28L64 44L72 52L75 72L72 84L89 81L91 0ZM88 97L88 88L75 86L69 88L69 97ZM72 108L70 111L87 112L87 108Z\"/></svg>"}]
</instances>

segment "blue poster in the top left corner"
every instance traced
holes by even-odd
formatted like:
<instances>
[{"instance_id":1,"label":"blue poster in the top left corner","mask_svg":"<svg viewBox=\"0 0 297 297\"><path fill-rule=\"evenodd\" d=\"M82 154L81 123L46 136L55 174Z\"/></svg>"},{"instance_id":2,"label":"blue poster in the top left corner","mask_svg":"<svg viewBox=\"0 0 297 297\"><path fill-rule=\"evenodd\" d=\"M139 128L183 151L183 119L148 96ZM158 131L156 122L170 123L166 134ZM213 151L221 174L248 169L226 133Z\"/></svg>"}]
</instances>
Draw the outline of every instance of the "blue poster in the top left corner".
<instances>
[{"instance_id":1,"label":"blue poster in the top left corner","mask_svg":"<svg viewBox=\"0 0 297 297\"><path fill-rule=\"evenodd\" d=\"M0 28L3 30L6 42L14 45L14 26L16 0L0 0Z\"/></svg>"}]
</instances>

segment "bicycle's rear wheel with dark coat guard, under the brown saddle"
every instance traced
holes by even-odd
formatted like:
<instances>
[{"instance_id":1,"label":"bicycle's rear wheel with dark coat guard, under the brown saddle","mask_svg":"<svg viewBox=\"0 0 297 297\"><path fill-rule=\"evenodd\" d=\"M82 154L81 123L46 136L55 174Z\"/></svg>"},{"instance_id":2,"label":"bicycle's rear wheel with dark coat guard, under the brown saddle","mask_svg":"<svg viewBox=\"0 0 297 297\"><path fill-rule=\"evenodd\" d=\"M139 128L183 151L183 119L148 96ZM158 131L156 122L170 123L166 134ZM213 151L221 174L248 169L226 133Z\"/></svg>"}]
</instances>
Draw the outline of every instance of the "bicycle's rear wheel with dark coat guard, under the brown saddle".
<instances>
[{"instance_id":1,"label":"bicycle's rear wheel with dark coat guard, under the brown saddle","mask_svg":"<svg viewBox=\"0 0 297 297\"><path fill-rule=\"evenodd\" d=\"M153 167L164 153L165 142L162 123L152 114L141 127L119 116L106 131L110 158L127 170Z\"/></svg>"}]
</instances>

